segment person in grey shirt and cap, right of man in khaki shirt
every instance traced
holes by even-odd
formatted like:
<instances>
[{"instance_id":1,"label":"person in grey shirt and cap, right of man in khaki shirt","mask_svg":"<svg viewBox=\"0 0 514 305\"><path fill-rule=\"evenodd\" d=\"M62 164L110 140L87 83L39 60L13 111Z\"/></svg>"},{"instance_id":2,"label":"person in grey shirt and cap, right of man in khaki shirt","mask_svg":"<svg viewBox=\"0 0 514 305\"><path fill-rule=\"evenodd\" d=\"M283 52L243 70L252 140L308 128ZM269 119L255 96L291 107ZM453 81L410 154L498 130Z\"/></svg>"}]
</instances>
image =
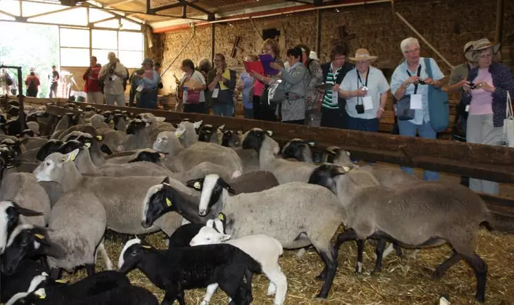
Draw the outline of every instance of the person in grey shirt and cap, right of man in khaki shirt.
<instances>
[{"instance_id":1,"label":"person in grey shirt and cap, right of man in khaki shirt","mask_svg":"<svg viewBox=\"0 0 514 305\"><path fill-rule=\"evenodd\" d=\"M136 91L140 95L138 100L138 108L157 109L157 86L159 83L159 74L153 69L153 60L144 58L142 62L142 74L135 74L139 79L139 86Z\"/></svg>"}]
</instances>

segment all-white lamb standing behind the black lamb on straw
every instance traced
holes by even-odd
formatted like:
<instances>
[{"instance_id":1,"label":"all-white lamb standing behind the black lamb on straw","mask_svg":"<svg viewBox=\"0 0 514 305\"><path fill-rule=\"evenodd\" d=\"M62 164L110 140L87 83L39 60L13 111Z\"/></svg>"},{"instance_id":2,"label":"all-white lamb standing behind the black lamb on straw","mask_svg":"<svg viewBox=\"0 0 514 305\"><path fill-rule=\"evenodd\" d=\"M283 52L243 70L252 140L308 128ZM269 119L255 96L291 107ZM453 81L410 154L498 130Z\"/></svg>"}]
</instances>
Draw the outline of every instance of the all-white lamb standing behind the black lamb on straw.
<instances>
[{"instance_id":1,"label":"all-white lamb standing behind the black lamb on straw","mask_svg":"<svg viewBox=\"0 0 514 305\"><path fill-rule=\"evenodd\" d=\"M230 235L219 233L213 227L202 227L198 234L191 239L189 245L194 247L225 242L242 249L254 260L261 263L262 272L270 280L268 295L275 295L275 305L282 305L284 300L286 300L288 282L286 275L283 274L279 266L279 256L283 253L281 243L275 238L264 234L244 236L233 240L229 240L230 238ZM217 284L207 286L207 293L200 305L208 304L217 286Z\"/></svg>"}]
</instances>

